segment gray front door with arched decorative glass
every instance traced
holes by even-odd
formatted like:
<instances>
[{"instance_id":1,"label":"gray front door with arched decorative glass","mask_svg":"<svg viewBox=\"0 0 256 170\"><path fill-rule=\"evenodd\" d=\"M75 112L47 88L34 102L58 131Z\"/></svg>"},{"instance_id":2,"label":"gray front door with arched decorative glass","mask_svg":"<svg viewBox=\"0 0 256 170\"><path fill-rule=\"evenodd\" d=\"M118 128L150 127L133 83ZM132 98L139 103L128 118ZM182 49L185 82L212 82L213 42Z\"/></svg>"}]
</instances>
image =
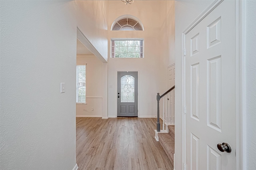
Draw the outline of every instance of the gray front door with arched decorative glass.
<instances>
[{"instance_id":1,"label":"gray front door with arched decorative glass","mask_svg":"<svg viewBox=\"0 0 256 170\"><path fill-rule=\"evenodd\" d=\"M138 117L138 72L117 72L117 117Z\"/></svg>"}]
</instances>

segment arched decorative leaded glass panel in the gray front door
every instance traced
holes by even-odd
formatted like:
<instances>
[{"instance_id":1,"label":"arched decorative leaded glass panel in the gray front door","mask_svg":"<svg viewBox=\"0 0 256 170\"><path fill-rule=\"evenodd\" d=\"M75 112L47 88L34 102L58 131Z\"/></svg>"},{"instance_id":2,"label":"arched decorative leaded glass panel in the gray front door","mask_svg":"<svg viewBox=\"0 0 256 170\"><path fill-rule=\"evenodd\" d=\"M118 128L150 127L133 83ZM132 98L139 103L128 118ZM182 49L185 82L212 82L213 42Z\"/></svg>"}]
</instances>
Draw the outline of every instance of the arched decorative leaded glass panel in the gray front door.
<instances>
[{"instance_id":1,"label":"arched decorative leaded glass panel in the gray front door","mask_svg":"<svg viewBox=\"0 0 256 170\"><path fill-rule=\"evenodd\" d=\"M121 77L121 102L134 102L134 77Z\"/></svg>"}]
</instances>

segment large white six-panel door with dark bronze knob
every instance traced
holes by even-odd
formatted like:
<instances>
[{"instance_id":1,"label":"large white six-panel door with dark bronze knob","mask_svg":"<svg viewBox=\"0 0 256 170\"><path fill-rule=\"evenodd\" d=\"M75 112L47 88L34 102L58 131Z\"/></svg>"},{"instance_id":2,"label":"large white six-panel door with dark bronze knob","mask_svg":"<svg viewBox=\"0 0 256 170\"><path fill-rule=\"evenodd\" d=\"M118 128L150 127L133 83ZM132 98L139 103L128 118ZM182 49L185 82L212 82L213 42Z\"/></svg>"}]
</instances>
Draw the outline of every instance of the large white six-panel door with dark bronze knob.
<instances>
[{"instance_id":1,"label":"large white six-panel door with dark bronze knob","mask_svg":"<svg viewBox=\"0 0 256 170\"><path fill-rule=\"evenodd\" d=\"M185 35L186 170L236 170L234 24L224 0Z\"/></svg>"}]
</instances>

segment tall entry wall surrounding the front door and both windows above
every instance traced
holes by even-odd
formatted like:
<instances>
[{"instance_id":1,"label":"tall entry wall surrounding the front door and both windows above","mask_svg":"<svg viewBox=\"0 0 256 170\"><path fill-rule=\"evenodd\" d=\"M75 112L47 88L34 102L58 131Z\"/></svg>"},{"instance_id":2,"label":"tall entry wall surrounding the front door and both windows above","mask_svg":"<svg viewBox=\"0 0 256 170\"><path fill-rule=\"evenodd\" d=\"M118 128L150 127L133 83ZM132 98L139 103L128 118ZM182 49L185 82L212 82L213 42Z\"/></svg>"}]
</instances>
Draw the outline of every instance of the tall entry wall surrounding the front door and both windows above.
<instances>
[{"instance_id":1,"label":"tall entry wall surrounding the front door and both windows above","mask_svg":"<svg viewBox=\"0 0 256 170\"><path fill-rule=\"evenodd\" d=\"M134 1L125 5L109 1L108 29L116 18L125 14L137 17L144 31L109 31L111 38L144 38L144 58L108 58L108 115L116 117L117 71L139 71L138 116L156 116L156 93L161 92L160 81L160 3L157 1ZM110 46L109 46L110 49ZM110 57L110 51L108 56Z\"/></svg>"}]
</instances>

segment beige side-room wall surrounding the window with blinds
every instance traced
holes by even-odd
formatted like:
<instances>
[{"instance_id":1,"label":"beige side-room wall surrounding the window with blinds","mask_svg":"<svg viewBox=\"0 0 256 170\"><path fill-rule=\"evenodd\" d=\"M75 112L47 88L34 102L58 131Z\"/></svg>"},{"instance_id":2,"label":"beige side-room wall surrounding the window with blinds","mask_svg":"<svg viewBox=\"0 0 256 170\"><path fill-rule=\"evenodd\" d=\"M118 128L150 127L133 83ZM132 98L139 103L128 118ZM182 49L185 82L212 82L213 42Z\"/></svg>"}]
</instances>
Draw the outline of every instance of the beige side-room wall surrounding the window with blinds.
<instances>
[{"instance_id":1,"label":"beige side-room wall surrounding the window with blinds","mask_svg":"<svg viewBox=\"0 0 256 170\"><path fill-rule=\"evenodd\" d=\"M95 55L78 55L76 63L86 63L86 105L76 104L76 117L102 117L103 63Z\"/></svg>"}]
</instances>

